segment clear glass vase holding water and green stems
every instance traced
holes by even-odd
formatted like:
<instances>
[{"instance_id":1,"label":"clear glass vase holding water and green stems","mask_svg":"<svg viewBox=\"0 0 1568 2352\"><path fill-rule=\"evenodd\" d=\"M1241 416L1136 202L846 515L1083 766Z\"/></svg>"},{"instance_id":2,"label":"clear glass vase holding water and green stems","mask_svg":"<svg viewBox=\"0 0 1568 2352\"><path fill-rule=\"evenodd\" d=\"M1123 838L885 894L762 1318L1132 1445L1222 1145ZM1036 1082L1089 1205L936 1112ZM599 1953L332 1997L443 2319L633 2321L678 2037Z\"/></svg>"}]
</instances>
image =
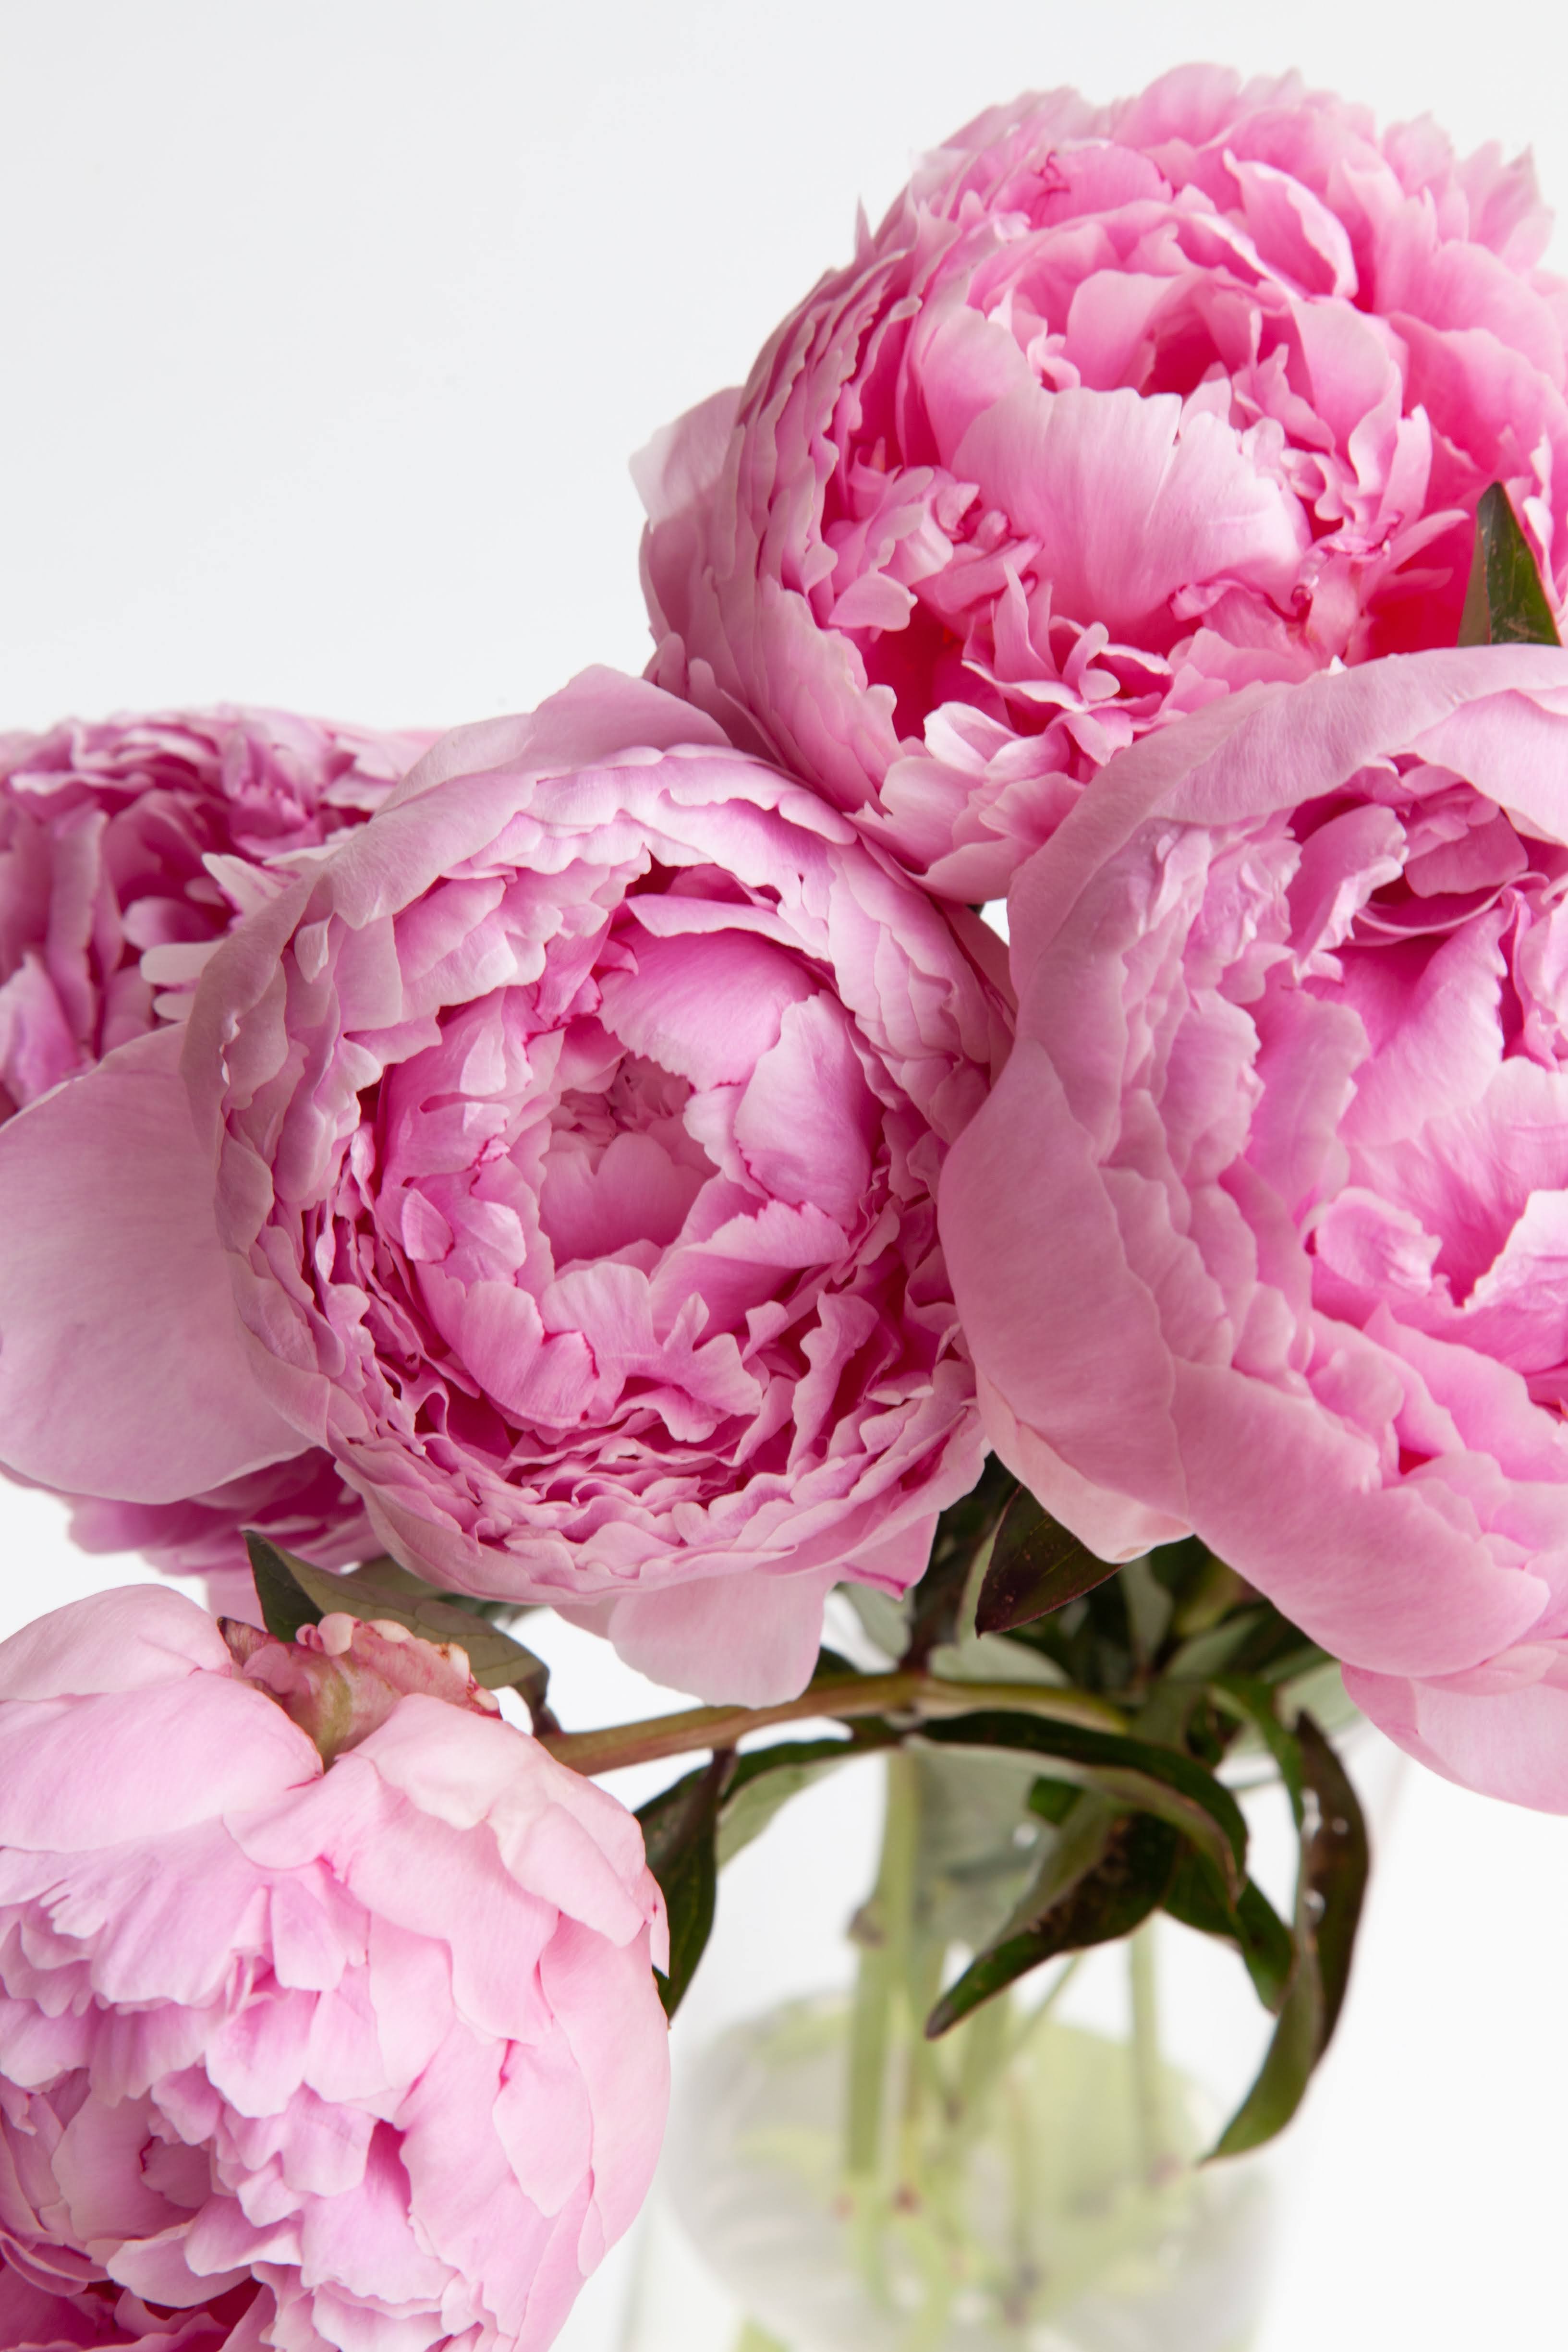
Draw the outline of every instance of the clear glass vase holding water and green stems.
<instances>
[{"instance_id":1,"label":"clear glass vase holding water and green stems","mask_svg":"<svg viewBox=\"0 0 1568 2352\"><path fill-rule=\"evenodd\" d=\"M1164 2053L1157 1931L926 2039L1048 1832L1027 1764L884 1771L853 1980L686 2037L618 2352L1244 2352L1274 2164L1201 2161L1234 2084Z\"/></svg>"}]
</instances>

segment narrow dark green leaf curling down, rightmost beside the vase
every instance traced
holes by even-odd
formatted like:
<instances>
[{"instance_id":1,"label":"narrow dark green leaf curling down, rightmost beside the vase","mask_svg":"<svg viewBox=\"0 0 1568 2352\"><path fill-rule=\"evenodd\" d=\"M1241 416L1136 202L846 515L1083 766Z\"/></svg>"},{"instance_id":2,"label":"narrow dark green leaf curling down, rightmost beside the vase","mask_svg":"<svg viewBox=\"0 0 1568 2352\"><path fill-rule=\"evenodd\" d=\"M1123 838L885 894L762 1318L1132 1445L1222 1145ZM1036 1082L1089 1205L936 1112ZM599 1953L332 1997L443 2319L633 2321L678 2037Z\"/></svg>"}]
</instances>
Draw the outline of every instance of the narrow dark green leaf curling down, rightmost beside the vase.
<instances>
[{"instance_id":1,"label":"narrow dark green leaf curling down, rightmost beside the vase","mask_svg":"<svg viewBox=\"0 0 1568 2352\"><path fill-rule=\"evenodd\" d=\"M1340 2020L1366 1896L1368 1844L1356 1792L1338 1755L1298 1717L1300 1875L1295 1882L1295 1976L1253 2089L1220 2133L1213 2157L1262 2147L1291 2122Z\"/></svg>"}]
</instances>

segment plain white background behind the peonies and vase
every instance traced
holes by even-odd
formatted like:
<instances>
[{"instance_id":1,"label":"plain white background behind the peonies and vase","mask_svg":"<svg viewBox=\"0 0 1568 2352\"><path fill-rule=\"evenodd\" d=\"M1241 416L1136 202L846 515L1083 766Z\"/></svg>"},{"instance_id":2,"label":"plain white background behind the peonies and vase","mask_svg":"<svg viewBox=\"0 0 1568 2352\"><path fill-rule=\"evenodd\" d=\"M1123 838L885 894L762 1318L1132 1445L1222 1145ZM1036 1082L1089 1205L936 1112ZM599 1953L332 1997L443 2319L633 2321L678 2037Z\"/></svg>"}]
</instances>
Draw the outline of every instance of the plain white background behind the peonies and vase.
<instances>
[{"instance_id":1,"label":"plain white background behind the peonies and vase","mask_svg":"<svg viewBox=\"0 0 1568 2352\"><path fill-rule=\"evenodd\" d=\"M1568 33L1528 5L0 0L0 727L433 724L637 668L625 459L745 372L856 198L1020 87L1187 56L1533 143L1568 200ZM33 1496L0 1562L9 1623L129 1571ZM578 1719L637 1710L562 1663ZM736 1865L712 2013L827 1947L844 1830L870 1804ZM1408 1776L1260 2352L1563 2343L1566 1865L1563 1823ZM590 2296L569 2340L607 2326Z\"/></svg>"}]
</instances>

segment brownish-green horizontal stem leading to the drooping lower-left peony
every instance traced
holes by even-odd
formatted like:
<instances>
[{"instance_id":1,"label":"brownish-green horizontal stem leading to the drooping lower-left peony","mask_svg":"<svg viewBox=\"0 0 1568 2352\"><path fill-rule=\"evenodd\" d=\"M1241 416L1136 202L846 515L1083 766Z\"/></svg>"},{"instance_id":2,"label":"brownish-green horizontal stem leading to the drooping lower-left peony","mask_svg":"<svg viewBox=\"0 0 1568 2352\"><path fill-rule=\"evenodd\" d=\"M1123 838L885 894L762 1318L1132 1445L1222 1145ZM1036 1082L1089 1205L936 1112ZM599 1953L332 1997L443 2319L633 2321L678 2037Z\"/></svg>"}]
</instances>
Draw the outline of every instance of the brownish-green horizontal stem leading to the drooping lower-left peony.
<instances>
[{"instance_id":1,"label":"brownish-green horizontal stem leading to the drooping lower-left peony","mask_svg":"<svg viewBox=\"0 0 1568 2352\"><path fill-rule=\"evenodd\" d=\"M555 1731L538 1745L548 1748L557 1764L595 1773L733 1748L748 1731L766 1731L769 1724L818 1717L853 1722L856 1715L907 1715L919 1724L924 1717L969 1715L976 1708L1044 1715L1058 1724L1088 1724L1093 1731L1126 1731L1121 1710L1086 1691L1058 1691L1039 1682L947 1682L940 1675L896 1672L823 1675L799 1698L785 1698L776 1708L686 1708L679 1715L649 1715L637 1724L609 1724L604 1731Z\"/></svg>"}]
</instances>

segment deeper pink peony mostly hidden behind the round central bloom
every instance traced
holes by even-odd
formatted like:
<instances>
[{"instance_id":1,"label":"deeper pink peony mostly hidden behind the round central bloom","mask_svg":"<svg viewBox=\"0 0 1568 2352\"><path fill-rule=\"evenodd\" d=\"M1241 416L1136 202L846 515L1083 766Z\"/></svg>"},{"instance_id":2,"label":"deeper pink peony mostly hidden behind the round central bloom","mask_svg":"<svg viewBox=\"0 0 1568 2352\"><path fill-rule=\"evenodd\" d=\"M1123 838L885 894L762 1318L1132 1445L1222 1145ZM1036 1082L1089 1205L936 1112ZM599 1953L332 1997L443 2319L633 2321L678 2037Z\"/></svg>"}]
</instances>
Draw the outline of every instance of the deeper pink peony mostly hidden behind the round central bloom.
<instances>
[{"instance_id":1,"label":"deeper pink peony mostly hidden behind the round central bloom","mask_svg":"<svg viewBox=\"0 0 1568 2352\"><path fill-rule=\"evenodd\" d=\"M360 826L430 734L369 734L284 710L169 710L0 736L0 1120L101 1054L188 1011L195 976L296 851ZM247 1578L242 1526L327 1566L376 1541L324 1454L242 1494L113 1512L82 1501L87 1550L169 1573Z\"/></svg>"}]
</instances>

